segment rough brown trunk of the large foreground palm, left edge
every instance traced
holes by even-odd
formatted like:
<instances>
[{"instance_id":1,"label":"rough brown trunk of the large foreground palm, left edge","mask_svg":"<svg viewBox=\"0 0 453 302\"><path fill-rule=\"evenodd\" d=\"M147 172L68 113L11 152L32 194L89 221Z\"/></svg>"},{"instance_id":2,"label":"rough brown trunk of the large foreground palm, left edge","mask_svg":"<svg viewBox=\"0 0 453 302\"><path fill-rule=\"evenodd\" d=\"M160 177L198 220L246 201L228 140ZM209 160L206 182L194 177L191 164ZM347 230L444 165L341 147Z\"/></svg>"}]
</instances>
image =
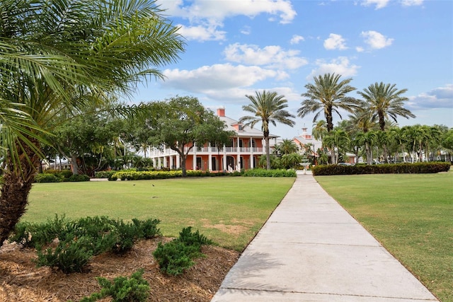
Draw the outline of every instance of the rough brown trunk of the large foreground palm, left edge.
<instances>
[{"instance_id":1,"label":"rough brown trunk of the large foreground palm, left edge","mask_svg":"<svg viewBox=\"0 0 453 302\"><path fill-rule=\"evenodd\" d=\"M39 146L38 142L30 141ZM0 195L0 246L14 230L28 204L28 194L35 180L36 170L40 164L39 156L25 144L18 146L19 165L13 165L11 154L6 158L6 173Z\"/></svg>"}]
</instances>

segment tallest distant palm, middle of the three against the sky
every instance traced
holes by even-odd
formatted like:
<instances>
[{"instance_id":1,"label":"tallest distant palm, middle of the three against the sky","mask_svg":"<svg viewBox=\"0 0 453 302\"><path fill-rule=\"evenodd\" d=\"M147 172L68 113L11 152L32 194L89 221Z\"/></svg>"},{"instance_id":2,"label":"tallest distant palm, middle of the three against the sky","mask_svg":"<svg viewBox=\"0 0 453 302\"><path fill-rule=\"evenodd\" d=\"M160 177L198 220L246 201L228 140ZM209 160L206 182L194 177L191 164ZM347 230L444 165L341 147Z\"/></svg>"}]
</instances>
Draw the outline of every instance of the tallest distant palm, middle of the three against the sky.
<instances>
[{"instance_id":1,"label":"tallest distant palm, middle of the three against the sky","mask_svg":"<svg viewBox=\"0 0 453 302\"><path fill-rule=\"evenodd\" d=\"M355 98L347 96L351 91L355 91L355 88L349 85L352 79L340 81L340 77L339 74L324 74L317 78L314 77L314 84L306 84L306 93L302 93L306 99L302 101L302 107L297 110L297 116L304 117L311 112L316 112L313 119L313 122L316 122L323 112L326 117L327 131L331 132L333 130L333 112L336 112L341 118L338 109L352 112L354 108L357 108L358 103Z\"/></svg>"}]
</instances>

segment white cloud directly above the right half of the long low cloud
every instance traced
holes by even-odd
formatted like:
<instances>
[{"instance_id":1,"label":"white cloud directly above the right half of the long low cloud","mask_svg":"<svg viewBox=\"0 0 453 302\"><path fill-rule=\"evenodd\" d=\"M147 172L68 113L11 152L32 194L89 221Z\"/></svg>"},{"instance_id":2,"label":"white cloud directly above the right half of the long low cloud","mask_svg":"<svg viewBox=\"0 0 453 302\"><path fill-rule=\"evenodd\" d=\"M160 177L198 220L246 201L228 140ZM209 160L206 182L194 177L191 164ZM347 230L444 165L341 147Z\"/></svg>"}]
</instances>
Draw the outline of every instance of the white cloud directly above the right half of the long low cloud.
<instances>
[{"instance_id":1,"label":"white cloud directly above the right half of the long low cloud","mask_svg":"<svg viewBox=\"0 0 453 302\"><path fill-rule=\"evenodd\" d=\"M276 45L260 48L239 43L228 45L224 50L227 61L280 69L297 69L306 65L308 62L299 57L299 53L299 50L282 50Z\"/></svg>"}]
</instances>

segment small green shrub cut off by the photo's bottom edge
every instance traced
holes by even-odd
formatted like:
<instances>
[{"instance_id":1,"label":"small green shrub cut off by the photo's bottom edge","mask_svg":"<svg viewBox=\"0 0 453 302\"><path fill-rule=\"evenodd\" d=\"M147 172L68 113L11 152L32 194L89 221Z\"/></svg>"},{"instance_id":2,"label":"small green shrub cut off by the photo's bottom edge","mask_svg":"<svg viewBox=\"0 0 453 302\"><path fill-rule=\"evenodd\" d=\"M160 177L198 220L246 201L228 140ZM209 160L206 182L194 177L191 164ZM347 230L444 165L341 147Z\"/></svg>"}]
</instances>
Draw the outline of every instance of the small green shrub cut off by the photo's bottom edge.
<instances>
[{"instance_id":1,"label":"small green shrub cut off by the photo's bottom edge","mask_svg":"<svg viewBox=\"0 0 453 302\"><path fill-rule=\"evenodd\" d=\"M113 279L113 282L103 277L98 277L98 283L102 287L101 292L83 298L80 302L93 302L106 296L112 296L113 302L147 301L149 284L147 280L143 279L143 272L143 269L139 269L130 278L117 277Z\"/></svg>"}]
</instances>

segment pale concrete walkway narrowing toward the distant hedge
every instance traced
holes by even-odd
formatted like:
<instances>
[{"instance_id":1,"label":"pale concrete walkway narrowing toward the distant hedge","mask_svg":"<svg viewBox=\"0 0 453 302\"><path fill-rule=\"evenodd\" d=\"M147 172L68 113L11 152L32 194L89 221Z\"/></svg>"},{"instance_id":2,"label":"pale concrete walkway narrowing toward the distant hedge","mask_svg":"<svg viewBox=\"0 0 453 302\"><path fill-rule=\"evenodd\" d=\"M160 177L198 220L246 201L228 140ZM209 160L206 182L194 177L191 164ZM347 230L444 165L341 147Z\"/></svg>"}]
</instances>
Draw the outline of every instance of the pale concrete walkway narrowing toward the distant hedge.
<instances>
[{"instance_id":1,"label":"pale concrete walkway narrowing toward the distant hedge","mask_svg":"<svg viewBox=\"0 0 453 302\"><path fill-rule=\"evenodd\" d=\"M437 299L302 172L212 301Z\"/></svg>"}]
</instances>

